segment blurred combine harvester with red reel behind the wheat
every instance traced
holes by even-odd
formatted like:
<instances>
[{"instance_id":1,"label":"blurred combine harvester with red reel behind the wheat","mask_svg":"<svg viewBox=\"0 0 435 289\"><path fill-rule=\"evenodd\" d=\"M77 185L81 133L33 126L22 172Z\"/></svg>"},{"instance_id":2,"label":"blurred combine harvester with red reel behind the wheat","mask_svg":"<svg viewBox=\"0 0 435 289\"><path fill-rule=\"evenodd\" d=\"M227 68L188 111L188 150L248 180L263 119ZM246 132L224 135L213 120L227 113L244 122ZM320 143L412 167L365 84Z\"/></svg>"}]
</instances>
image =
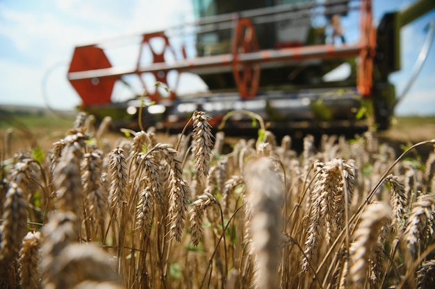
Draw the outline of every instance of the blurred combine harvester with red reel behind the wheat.
<instances>
[{"instance_id":1,"label":"blurred combine harvester with red reel behind the wheat","mask_svg":"<svg viewBox=\"0 0 435 289\"><path fill-rule=\"evenodd\" d=\"M374 27L370 0L192 1L197 21L138 35L129 67L110 62L114 40L77 46L67 78L83 100L81 110L132 128L143 105L145 128L177 132L195 110L206 111L215 127L228 112L248 110L274 132L386 129L397 103L388 76L400 69L400 29L435 7L419 0ZM352 19L354 32L345 26L340 33L340 18ZM345 75L332 79L339 70ZM179 94L185 73L208 89ZM114 87L131 82L140 91L114 101ZM230 134L252 129L258 128L245 114L224 128Z\"/></svg>"}]
</instances>

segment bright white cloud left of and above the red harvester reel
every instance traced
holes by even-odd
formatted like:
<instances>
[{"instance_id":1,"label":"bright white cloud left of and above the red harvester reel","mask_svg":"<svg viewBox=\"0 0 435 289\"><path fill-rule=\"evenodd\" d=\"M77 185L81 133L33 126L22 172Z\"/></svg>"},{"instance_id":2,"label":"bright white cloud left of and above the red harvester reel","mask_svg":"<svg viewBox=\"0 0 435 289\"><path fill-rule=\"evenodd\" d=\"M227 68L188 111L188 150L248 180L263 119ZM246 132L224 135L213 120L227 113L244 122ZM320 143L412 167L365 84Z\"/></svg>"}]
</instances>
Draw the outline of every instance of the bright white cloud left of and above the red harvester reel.
<instances>
[{"instance_id":1,"label":"bright white cloud left of and above the red harvester reel","mask_svg":"<svg viewBox=\"0 0 435 289\"><path fill-rule=\"evenodd\" d=\"M189 14L189 7L182 1L163 1L163 9L153 1L85 1L59 0L56 9L8 10L3 7L0 35L18 49L22 60L1 59L0 103L44 105L41 93L42 79L49 71L46 90L49 105L71 108L80 98L67 82L67 64L54 69L58 62L69 62L74 46L90 44L111 37L133 35L144 31L163 29L180 21L179 13ZM170 8L170 9L169 9ZM191 9L190 9L191 11ZM138 46L124 55L134 56ZM115 58L122 55L115 55ZM21 64L19 64L21 62Z\"/></svg>"}]
</instances>

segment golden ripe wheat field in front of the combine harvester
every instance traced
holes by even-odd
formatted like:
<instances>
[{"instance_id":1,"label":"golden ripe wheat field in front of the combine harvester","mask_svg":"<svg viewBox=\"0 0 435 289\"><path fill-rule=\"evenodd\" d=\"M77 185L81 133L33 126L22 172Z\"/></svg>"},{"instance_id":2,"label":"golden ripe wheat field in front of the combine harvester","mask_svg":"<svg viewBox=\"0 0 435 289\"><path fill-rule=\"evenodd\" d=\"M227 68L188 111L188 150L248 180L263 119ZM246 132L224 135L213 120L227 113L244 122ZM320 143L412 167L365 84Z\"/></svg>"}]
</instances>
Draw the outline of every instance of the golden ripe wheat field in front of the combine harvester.
<instances>
[{"instance_id":1,"label":"golden ripe wheat field in front of the combine harvester","mask_svg":"<svg viewBox=\"0 0 435 289\"><path fill-rule=\"evenodd\" d=\"M44 152L2 136L1 288L434 288L435 139L228 148L194 112L110 143L91 117Z\"/></svg>"}]
</instances>

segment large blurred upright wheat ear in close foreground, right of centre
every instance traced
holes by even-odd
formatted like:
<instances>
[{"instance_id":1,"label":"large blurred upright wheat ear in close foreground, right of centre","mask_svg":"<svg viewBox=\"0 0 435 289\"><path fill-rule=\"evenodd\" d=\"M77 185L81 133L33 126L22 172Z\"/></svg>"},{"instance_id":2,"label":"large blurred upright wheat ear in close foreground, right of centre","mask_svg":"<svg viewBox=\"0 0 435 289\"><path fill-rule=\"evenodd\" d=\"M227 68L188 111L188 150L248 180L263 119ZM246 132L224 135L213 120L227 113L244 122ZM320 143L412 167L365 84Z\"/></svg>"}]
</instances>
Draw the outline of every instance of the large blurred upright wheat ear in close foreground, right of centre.
<instances>
[{"instance_id":1,"label":"large blurred upright wheat ear in close foreground, right of centre","mask_svg":"<svg viewBox=\"0 0 435 289\"><path fill-rule=\"evenodd\" d=\"M284 184L268 157L247 162L244 179L247 186L250 230L256 256L257 288L279 288L277 271L282 238L281 204Z\"/></svg>"}]
</instances>

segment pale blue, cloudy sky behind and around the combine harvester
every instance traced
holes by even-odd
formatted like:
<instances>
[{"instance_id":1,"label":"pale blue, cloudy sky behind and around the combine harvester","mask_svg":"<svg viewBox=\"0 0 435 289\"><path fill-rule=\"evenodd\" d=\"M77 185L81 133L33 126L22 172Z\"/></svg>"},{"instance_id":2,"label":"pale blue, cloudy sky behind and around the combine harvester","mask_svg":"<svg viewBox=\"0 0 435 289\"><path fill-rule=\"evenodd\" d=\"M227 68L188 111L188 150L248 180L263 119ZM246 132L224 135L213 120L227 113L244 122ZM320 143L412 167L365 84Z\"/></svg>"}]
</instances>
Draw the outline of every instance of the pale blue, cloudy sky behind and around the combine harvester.
<instances>
[{"instance_id":1,"label":"pale blue, cloudy sky behind and around the combine harvester","mask_svg":"<svg viewBox=\"0 0 435 289\"><path fill-rule=\"evenodd\" d=\"M81 104L81 98L67 81L67 70L75 46L104 42L111 51L108 57L113 65L134 63L132 60L138 55L138 38L134 35L192 22L191 3L192 0L0 0L0 106L74 109ZM413 0L373 0L373 20L377 23L385 12L400 10L410 3ZM342 20L346 28L352 19ZM402 29L402 69L390 78L397 95L402 94L411 77L427 35L424 28L431 20L435 21L435 9ZM107 42L115 38L119 41ZM174 43L177 44L176 38ZM193 56L193 37L185 44L188 55ZM181 93L204 89L206 86L197 76L181 76ZM140 92L136 89L136 93ZM129 96L131 91L124 85L115 86L113 100ZM434 43L395 114L435 115Z\"/></svg>"}]
</instances>

